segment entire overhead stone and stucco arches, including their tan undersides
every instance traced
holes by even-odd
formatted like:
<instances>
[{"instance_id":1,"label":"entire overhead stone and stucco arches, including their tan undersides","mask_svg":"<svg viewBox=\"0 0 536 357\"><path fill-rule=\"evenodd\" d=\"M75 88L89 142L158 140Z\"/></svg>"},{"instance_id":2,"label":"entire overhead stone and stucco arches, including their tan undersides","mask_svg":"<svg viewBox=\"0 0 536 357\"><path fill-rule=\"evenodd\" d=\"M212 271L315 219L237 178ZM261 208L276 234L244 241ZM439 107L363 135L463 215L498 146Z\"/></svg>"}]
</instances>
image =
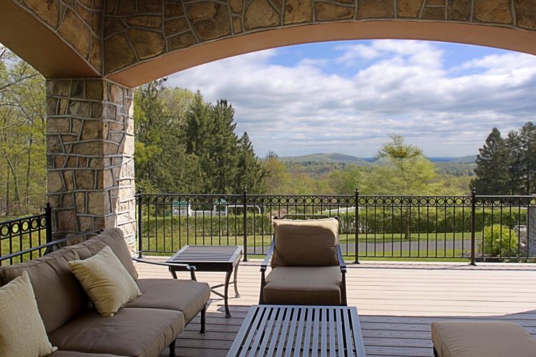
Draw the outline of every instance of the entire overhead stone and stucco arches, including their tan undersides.
<instances>
[{"instance_id":1,"label":"entire overhead stone and stucco arches, including their tan undersides","mask_svg":"<svg viewBox=\"0 0 536 357\"><path fill-rule=\"evenodd\" d=\"M406 38L536 54L536 0L0 0L0 42L49 78L126 86L236 54Z\"/></svg>"}]
</instances>

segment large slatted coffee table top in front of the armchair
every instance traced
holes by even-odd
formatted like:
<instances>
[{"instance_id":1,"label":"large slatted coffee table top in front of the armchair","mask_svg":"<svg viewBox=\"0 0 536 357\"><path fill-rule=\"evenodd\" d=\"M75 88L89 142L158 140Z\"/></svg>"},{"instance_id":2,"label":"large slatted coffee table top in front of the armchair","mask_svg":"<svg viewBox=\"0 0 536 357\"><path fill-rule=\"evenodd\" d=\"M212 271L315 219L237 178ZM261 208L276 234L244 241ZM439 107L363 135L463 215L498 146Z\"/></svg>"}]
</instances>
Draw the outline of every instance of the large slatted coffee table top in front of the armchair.
<instances>
[{"instance_id":1,"label":"large slatted coffee table top in front of the armchair","mask_svg":"<svg viewBox=\"0 0 536 357\"><path fill-rule=\"evenodd\" d=\"M357 308L253 305L227 357L366 357Z\"/></svg>"}]
</instances>

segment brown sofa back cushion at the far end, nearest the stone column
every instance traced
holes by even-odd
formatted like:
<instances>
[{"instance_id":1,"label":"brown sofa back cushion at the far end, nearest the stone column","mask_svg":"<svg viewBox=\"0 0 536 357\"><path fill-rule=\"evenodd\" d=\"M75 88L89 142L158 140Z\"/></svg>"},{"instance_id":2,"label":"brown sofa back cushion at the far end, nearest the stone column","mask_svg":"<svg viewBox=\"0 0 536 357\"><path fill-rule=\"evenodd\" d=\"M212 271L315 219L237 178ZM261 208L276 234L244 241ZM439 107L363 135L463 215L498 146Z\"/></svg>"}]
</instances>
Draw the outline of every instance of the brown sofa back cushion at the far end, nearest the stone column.
<instances>
[{"instance_id":1,"label":"brown sofa back cushion at the far end, nearest the stone column","mask_svg":"<svg viewBox=\"0 0 536 357\"><path fill-rule=\"evenodd\" d=\"M73 245L70 249L77 252L80 259L87 259L96 255L105 246L112 248L114 254L119 258L121 264L126 268L126 271L132 276L134 280L137 279L137 271L132 261L131 252L125 242L123 231L119 228L105 229L98 236L88 239L77 245Z\"/></svg>"}]
</instances>

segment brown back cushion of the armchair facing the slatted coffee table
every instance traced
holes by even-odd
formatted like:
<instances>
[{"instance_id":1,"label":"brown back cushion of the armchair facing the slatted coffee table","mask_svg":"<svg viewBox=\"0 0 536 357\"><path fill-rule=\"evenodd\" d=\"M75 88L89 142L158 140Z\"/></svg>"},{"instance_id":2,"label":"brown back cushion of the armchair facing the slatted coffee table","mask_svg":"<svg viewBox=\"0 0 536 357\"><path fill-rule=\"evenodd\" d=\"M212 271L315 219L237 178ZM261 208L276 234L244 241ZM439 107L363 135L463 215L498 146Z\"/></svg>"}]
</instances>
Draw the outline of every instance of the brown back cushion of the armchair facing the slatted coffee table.
<instances>
[{"instance_id":1,"label":"brown back cushion of the armchair facing the slatted coffee table","mask_svg":"<svg viewBox=\"0 0 536 357\"><path fill-rule=\"evenodd\" d=\"M274 220L271 266L335 266L338 220Z\"/></svg>"}]
</instances>

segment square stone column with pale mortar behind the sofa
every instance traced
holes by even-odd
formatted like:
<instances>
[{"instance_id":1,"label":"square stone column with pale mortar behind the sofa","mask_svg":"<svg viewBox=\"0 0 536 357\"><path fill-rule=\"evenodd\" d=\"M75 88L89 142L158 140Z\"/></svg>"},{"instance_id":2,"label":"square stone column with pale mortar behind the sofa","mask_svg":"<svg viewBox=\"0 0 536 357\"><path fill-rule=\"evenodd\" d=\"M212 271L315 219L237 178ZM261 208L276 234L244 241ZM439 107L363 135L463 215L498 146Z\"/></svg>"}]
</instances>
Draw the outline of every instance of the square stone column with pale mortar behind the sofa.
<instances>
[{"instance_id":1,"label":"square stone column with pale mortar behind the sofa","mask_svg":"<svg viewBox=\"0 0 536 357\"><path fill-rule=\"evenodd\" d=\"M47 196L53 231L119 227L135 243L133 90L47 80Z\"/></svg>"}]
</instances>

